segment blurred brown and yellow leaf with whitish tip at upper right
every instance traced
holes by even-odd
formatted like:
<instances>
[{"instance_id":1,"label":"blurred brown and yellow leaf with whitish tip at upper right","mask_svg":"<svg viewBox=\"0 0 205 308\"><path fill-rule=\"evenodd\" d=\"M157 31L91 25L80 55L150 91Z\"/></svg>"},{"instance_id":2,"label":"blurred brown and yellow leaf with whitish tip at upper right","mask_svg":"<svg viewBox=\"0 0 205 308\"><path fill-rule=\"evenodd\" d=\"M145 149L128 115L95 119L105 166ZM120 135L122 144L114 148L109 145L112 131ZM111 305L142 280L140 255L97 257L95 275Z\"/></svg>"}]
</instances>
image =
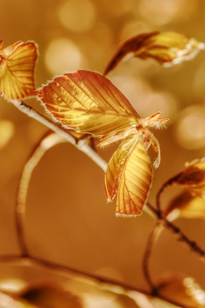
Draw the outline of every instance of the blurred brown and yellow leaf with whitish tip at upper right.
<instances>
[{"instance_id":1,"label":"blurred brown and yellow leaf with whitish tip at upper right","mask_svg":"<svg viewBox=\"0 0 205 308\"><path fill-rule=\"evenodd\" d=\"M119 62L133 57L152 58L163 66L171 66L184 60L191 60L202 49L205 49L204 43L176 32L143 33L127 40L119 47L117 54L108 64L105 75Z\"/></svg>"}]
</instances>

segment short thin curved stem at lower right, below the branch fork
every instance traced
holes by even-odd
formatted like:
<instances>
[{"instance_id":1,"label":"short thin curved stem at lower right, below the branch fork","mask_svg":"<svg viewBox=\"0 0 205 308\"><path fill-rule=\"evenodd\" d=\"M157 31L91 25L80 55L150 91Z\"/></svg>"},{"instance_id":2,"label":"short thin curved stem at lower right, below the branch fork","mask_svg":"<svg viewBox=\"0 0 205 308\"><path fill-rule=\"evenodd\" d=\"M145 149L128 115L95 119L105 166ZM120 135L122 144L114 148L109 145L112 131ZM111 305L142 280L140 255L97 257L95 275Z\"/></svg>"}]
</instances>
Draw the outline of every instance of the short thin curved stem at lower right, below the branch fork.
<instances>
[{"instance_id":1,"label":"short thin curved stem at lower right, below the branch fork","mask_svg":"<svg viewBox=\"0 0 205 308\"><path fill-rule=\"evenodd\" d=\"M148 285L151 288L151 294L152 295L156 295L157 294L157 288L155 287L151 277L150 277L150 273L149 273L149 260L150 260L150 256L151 253L153 251L153 248L161 234L163 230L163 226L161 224L161 222L157 222L157 224L155 225L154 229L152 230L147 245L146 245L146 251L144 254L144 258L143 258L143 272L144 272L144 276L146 278L146 281L148 283Z\"/></svg>"}]
</instances>

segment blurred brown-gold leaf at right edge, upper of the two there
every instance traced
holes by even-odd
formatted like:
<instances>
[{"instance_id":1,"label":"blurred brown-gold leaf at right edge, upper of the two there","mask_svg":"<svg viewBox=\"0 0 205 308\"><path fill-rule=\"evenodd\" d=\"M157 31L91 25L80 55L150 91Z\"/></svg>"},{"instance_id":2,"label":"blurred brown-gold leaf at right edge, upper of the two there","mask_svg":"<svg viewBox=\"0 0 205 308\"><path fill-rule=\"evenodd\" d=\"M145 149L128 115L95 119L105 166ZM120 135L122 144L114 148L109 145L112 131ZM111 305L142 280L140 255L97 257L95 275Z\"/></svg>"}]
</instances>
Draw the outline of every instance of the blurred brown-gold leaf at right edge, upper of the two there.
<instances>
[{"instance_id":1,"label":"blurred brown-gold leaf at right edge, upper of the two there","mask_svg":"<svg viewBox=\"0 0 205 308\"><path fill-rule=\"evenodd\" d=\"M187 163L186 166L171 184L183 186L192 196L205 199L205 157Z\"/></svg>"}]
</instances>

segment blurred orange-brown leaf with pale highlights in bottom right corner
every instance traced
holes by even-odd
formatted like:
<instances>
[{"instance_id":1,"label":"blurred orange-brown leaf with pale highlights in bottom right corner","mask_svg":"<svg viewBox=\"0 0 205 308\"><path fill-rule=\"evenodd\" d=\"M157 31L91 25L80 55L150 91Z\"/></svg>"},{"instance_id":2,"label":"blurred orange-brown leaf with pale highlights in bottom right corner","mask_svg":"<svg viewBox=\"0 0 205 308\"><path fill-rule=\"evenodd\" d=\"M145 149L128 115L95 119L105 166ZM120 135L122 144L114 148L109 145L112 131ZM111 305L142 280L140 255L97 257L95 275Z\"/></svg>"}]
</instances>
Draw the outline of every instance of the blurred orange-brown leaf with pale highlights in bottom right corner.
<instances>
[{"instance_id":1,"label":"blurred orange-brown leaf with pale highlights in bottom right corner","mask_svg":"<svg viewBox=\"0 0 205 308\"><path fill-rule=\"evenodd\" d=\"M158 293L182 307L205 307L205 291L192 277L164 278L158 284Z\"/></svg>"}]
</instances>

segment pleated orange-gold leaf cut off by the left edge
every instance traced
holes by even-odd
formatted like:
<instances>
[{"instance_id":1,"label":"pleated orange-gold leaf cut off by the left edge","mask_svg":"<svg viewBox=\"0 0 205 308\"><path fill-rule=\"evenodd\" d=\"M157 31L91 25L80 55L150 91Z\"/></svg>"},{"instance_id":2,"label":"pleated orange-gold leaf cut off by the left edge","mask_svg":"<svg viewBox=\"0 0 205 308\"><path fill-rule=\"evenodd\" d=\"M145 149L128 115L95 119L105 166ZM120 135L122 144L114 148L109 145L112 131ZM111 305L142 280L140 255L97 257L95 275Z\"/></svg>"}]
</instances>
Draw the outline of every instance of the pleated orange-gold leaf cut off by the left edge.
<instances>
[{"instance_id":1,"label":"pleated orange-gold leaf cut off by the left edge","mask_svg":"<svg viewBox=\"0 0 205 308\"><path fill-rule=\"evenodd\" d=\"M1 50L2 43L0 40L0 93L8 99L35 95L36 45L18 41Z\"/></svg>"}]
</instances>

